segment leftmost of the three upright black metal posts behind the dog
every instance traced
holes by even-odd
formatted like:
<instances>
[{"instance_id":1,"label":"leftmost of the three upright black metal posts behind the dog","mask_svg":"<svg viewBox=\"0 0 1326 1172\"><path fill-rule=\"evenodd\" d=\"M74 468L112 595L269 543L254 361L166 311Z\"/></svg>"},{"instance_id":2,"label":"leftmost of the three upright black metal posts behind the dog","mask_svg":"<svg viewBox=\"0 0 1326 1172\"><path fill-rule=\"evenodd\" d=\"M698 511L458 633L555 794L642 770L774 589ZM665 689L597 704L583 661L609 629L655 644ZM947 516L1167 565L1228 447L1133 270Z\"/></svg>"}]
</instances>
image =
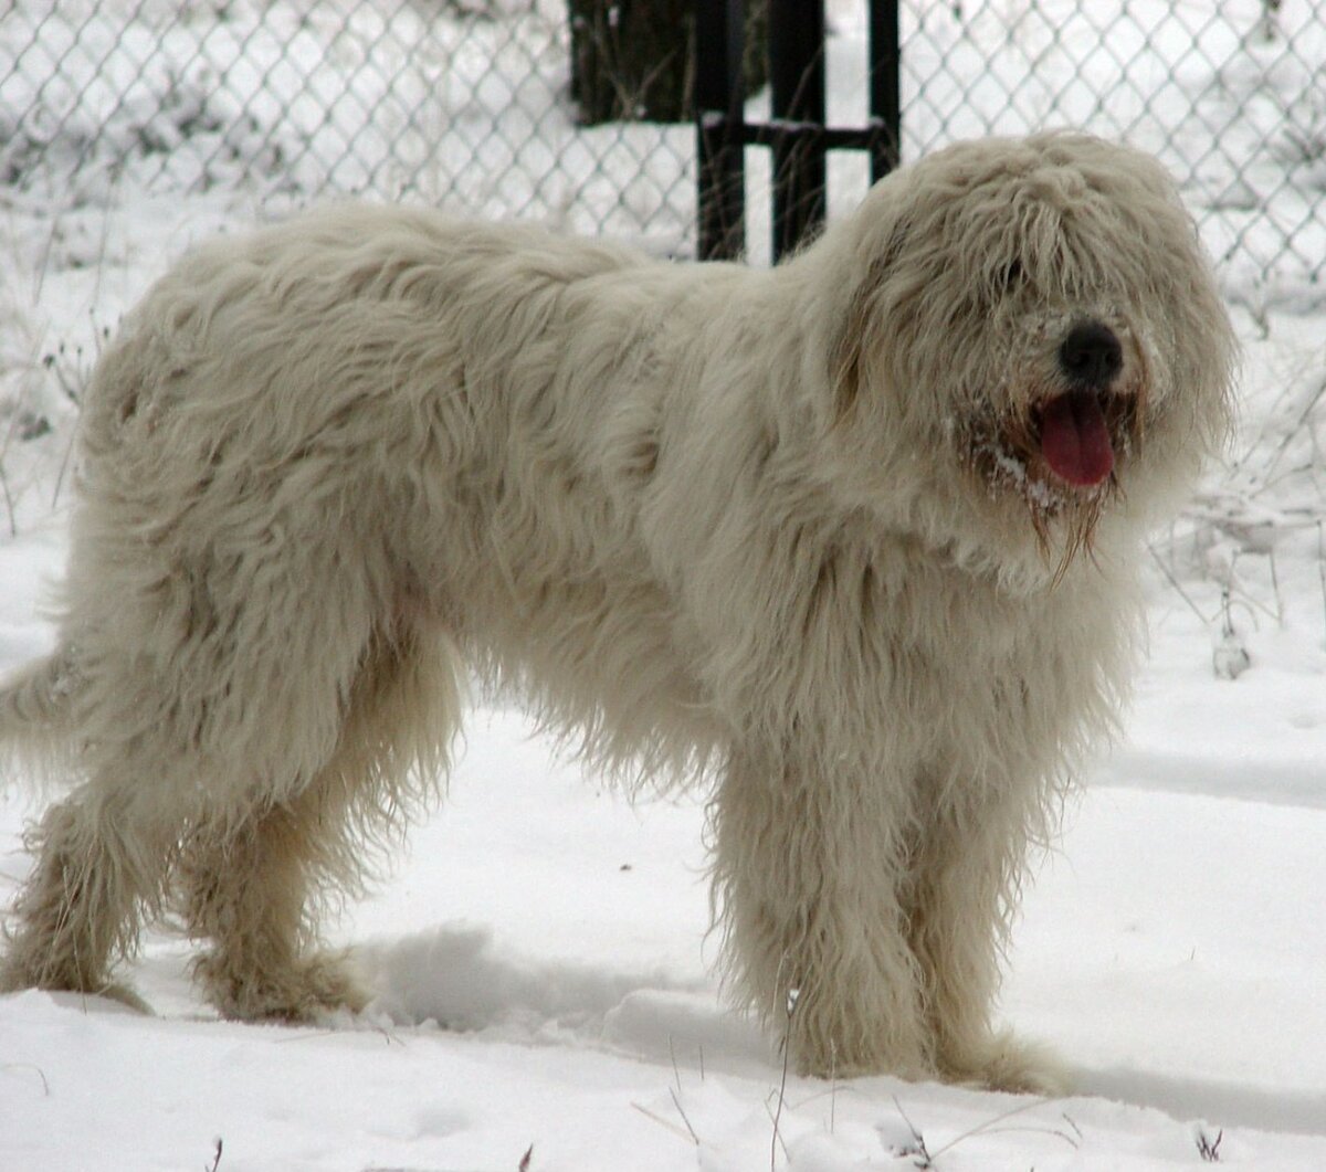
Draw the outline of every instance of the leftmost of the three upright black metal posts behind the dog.
<instances>
[{"instance_id":1,"label":"leftmost of the three upright black metal posts behind the dog","mask_svg":"<svg viewBox=\"0 0 1326 1172\"><path fill-rule=\"evenodd\" d=\"M731 260L745 248L744 38L741 0L697 0L695 118L700 164L700 260Z\"/></svg>"}]
</instances>

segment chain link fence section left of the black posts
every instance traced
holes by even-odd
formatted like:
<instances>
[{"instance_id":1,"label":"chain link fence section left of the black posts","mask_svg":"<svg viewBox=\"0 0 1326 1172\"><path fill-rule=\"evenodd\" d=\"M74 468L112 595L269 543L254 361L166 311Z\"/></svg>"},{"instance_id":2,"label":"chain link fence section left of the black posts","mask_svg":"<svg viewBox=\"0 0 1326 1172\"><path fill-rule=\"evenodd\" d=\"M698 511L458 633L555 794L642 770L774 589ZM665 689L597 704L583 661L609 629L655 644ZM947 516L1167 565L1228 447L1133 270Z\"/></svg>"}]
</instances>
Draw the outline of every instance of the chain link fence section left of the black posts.
<instances>
[{"instance_id":1,"label":"chain link fence section left of the black posts","mask_svg":"<svg viewBox=\"0 0 1326 1172\"><path fill-rule=\"evenodd\" d=\"M693 131L578 126L568 45L560 0L12 0L0 192L370 194L680 247Z\"/></svg>"}]
</instances>

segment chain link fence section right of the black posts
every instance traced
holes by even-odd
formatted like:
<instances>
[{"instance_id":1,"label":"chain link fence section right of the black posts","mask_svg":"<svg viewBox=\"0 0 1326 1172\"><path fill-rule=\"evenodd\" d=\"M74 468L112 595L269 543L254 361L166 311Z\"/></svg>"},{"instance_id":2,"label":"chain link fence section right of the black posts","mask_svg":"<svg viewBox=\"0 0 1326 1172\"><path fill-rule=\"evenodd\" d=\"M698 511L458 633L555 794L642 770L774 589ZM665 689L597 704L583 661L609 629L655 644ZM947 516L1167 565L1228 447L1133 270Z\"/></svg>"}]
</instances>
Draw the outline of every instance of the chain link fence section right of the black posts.
<instances>
[{"instance_id":1,"label":"chain link fence section right of the black posts","mask_svg":"<svg viewBox=\"0 0 1326 1172\"><path fill-rule=\"evenodd\" d=\"M1044 125L1123 138L1179 178L1228 289L1319 300L1323 0L916 0L910 16L904 154Z\"/></svg>"}]
</instances>

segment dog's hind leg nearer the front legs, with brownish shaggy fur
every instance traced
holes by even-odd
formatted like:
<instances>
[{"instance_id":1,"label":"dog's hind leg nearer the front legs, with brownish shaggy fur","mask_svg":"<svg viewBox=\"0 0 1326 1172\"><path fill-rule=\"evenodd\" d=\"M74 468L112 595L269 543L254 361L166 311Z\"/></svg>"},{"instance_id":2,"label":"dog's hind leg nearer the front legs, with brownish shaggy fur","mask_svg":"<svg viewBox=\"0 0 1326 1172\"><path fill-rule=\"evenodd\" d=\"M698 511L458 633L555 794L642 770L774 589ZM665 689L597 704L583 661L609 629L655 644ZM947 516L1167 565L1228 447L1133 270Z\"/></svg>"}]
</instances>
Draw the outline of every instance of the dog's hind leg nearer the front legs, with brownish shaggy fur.
<instances>
[{"instance_id":1,"label":"dog's hind leg nearer the front legs, with brownish shaggy fur","mask_svg":"<svg viewBox=\"0 0 1326 1172\"><path fill-rule=\"evenodd\" d=\"M362 887L374 847L442 781L457 667L446 640L375 636L313 781L239 823L204 822L184 845L183 911L208 949L195 976L227 1017L300 1021L366 1002L349 957L321 945L316 913Z\"/></svg>"}]
</instances>

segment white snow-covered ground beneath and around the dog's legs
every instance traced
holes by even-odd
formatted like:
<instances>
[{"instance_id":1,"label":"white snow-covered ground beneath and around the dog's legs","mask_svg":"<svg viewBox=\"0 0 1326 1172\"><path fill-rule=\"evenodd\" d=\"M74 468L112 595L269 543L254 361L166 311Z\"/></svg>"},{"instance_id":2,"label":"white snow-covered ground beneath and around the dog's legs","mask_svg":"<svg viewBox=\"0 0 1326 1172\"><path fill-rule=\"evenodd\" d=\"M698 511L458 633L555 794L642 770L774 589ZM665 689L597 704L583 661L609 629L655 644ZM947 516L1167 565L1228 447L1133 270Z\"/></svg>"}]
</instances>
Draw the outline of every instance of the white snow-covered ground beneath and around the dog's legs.
<instances>
[{"instance_id":1,"label":"white snow-covered ground beneath and around the dog's legs","mask_svg":"<svg viewBox=\"0 0 1326 1172\"><path fill-rule=\"evenodd\" d=\"M7 666L49 638L32 614L62 546L53 517L0 550ZM131 974L156 1017L3 997L0 1168L206 1168L217 1138L223 1169L513 1172L530 1145L568 1172L924 1167L910 1128L941 1169L1196 1167L1221 1134L1232 1167L1326 1167L1326 648L1303 594L1231 681L1158 586L1130 737L1029 892L1004 998L1073 1098L784 1083L708 976L699 802L629 806L485 709L446 807L341 924L374 1012L217 1022L167 936ZM0 799L0 899L33 809Z\"/></svg>"}]
</instances>

